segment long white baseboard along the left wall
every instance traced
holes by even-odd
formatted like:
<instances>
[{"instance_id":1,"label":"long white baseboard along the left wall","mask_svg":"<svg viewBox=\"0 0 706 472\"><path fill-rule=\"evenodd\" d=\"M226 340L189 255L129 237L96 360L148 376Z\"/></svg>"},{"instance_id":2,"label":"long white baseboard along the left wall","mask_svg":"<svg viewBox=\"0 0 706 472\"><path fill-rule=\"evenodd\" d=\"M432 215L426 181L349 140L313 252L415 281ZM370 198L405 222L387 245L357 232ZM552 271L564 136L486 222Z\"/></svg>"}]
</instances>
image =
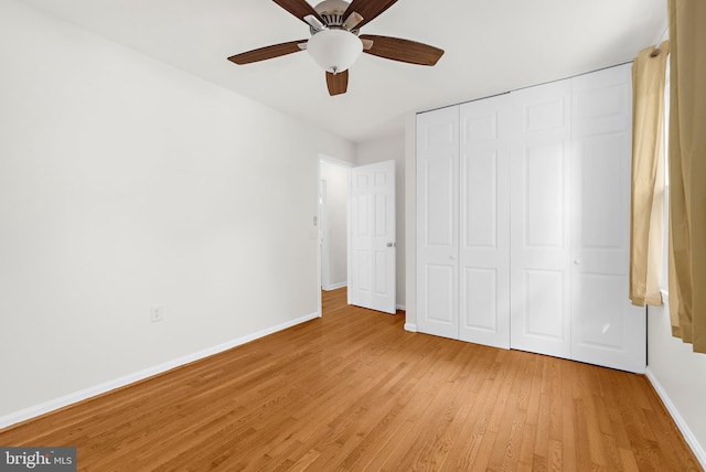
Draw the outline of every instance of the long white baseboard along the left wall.
<instances>
[{"instance_id":1,"label":"long white baseboard along the left wall","mask_svg":"<svg viewBox=\"0 0 706 472\"><path fill-rule=\"evenodd\" d=\"M272 328L268 328L261 331L258 331L253 334L245 335L243 337L238 337L232 341L228 341L223 344L215 345L213 347L207 347L205 350L195 352L193 354L188 354L183 357L179 357L172 361L168 361L163 364L156 365L153 367L146 368L140 372L136 372L133 374L129 374L114 380L108 380L106 383L95 385L93 387L85 388L79 391L75 391L73 394L65 395L60 398L55 398L50 401L45 401L40 405L35 405L29 408L25 408L20 411L12 412L10 415L6 415L0 417L0 429L7 428L12 425L17 425L18 422L26 421L29 419L35 418L41 415L45 415L50 411L57 410L60 408L67 407L78 401L83 401L90 397L95 397L97 395L101 395L108 393L110 390L115 390L116 388L125 387L127 385L133 384L139 380L143 380L146 378L152 377L158 374L162 374L167 371L171 371L172 368L180 367L184 364L189 364L194 361L202 360L204 357L212 356L214 354L222 353L224 351L228 351L233 347L239 346L245 343L249 343L250 341L255 341L259 337L267 336L269 334L276 333L278 331L286 330L288 328L295 326L297 324L304 323L307 321L313 320L315 318L320 318L320 313L312 313L306 317L298 318L296 320L288 321L286 323L278 324Z\"/></svg>"}]
</instances>

